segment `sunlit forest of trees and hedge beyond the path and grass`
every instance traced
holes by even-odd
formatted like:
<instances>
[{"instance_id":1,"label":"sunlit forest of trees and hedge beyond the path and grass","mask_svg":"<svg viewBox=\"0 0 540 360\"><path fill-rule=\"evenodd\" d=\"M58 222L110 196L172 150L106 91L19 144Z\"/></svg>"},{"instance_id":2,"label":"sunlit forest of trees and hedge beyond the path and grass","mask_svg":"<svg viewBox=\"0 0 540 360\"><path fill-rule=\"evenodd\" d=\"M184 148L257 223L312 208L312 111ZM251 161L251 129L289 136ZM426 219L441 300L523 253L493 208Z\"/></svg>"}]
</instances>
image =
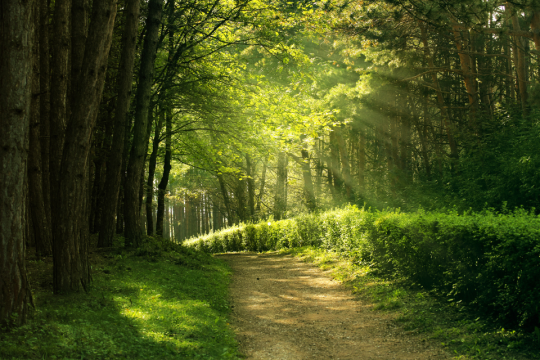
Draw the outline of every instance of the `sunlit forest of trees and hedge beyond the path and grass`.
<instances>
[{"instance_id":1,"label":"sunlit forest of trees and hedge beyond the path and grass","mask_svg":"<svg viewBox=\"0 0 540 360\"><path fill-rule=\"evenodd\" d=\"M540 343L540 1L2 0L0 24L0 328L39 312L34 263L61 298L95 254L310 245Z\"/></svg>"}]
</instances>

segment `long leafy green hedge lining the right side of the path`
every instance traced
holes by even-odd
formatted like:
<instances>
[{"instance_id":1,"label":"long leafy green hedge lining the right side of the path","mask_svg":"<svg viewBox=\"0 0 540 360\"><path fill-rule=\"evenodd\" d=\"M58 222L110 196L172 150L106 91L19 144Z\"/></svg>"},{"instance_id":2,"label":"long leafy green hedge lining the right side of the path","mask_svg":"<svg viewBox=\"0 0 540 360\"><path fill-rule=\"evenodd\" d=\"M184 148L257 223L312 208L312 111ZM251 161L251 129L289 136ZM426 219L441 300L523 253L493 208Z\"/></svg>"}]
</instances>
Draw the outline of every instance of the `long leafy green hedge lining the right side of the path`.
<instances>
[{"instance_id":1,"label":"long leafy green hedge lining the right side of the path","mask_svg":"<svg viewBox=\"0 0 540 360\"><path fill-rule=\"evenodd\" d=\"M540 325L540 218L348 207L235 226L189 240L206 252L316 246L407 279L510 325Z\"/></svg>"}]
</instances>

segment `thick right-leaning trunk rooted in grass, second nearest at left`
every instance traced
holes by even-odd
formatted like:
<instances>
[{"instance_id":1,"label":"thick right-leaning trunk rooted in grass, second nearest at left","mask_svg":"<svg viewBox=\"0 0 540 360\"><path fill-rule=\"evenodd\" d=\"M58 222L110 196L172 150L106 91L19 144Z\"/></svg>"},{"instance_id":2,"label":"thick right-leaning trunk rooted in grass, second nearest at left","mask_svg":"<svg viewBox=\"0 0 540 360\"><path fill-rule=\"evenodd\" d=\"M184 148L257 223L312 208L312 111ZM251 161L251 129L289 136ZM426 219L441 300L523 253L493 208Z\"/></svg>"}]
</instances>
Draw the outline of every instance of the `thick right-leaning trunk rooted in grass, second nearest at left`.
<instances>
[{"instance_id":1,"label":"thick right-leaning trunk rooted in grass, second nearest at left","mask_svg":"<svg viewBox=\"0 0 540 360\"><path fill-rule=\"evenodd\" d=\"M85 43L80 74L72 85L71 119L67 124L59 176L57 211L53 224L54 291L86 289L88 266L89 154L96 114L107 69L116 17L113 0L96 0L92 31Z\"/></svg>"}]
</instances>

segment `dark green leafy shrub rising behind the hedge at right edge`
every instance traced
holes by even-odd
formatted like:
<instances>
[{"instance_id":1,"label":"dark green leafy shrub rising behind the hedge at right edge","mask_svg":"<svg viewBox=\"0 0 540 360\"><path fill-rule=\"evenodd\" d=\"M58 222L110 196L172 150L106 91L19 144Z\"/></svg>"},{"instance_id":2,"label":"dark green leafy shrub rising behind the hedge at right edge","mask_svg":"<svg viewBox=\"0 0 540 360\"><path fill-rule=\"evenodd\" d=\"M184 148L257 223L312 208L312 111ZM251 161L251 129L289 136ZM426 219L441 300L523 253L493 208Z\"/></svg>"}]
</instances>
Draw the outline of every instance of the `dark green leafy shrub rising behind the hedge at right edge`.
<instances>
[{"instance_id":1,"label":"dark green leafy shrub rising behind the hedge at right edge","mask_svg":"<svg viewBox=\"0 0 540 360\"><path fill-rule=\"evenodd\" d=\"M540 207L540 123L538 110L524 117L501 110L498 125L486 122L481 140L471 139L459 173L448 179L455 203L480 210Z\"/></svg>"}]
</instances>

